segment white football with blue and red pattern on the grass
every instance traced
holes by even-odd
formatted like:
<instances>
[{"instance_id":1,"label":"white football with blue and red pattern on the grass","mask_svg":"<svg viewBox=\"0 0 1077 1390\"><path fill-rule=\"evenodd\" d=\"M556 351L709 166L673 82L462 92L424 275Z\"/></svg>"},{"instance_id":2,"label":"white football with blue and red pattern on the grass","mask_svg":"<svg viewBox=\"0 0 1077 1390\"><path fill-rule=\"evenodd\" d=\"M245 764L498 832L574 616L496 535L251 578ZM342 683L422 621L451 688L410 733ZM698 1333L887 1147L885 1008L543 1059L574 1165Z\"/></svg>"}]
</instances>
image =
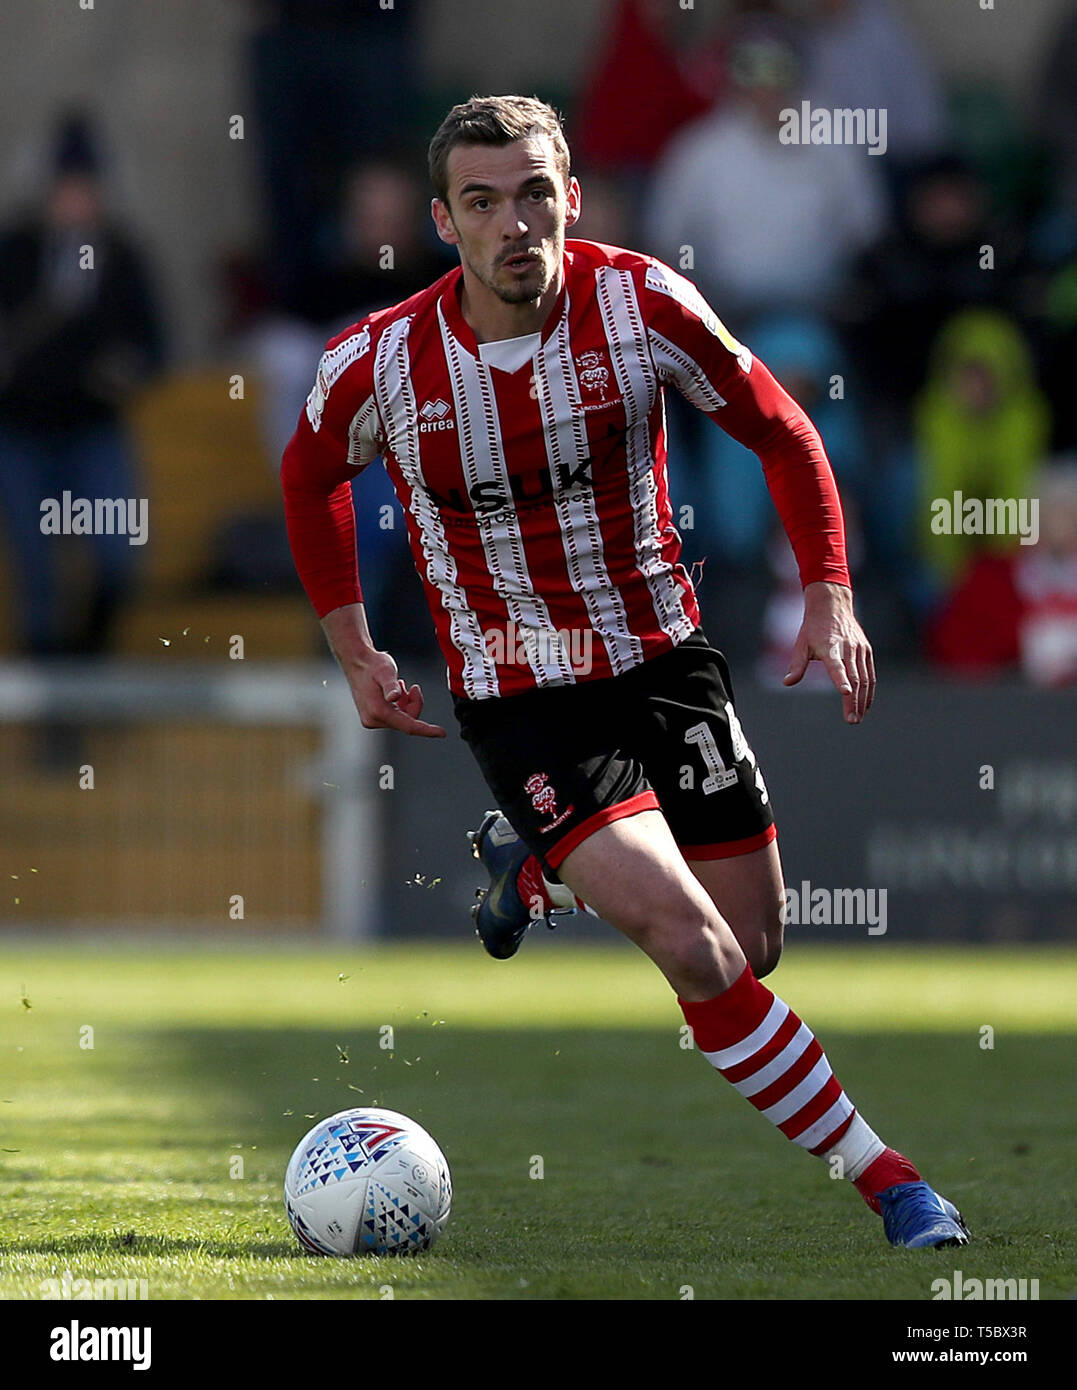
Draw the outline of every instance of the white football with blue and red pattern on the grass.
<instances>
[{"instance_id":1,"label":"white football with blue and red pattern on the grass","mask_svg":"<svg viewBox=\"0 0 1077 1390\"><path fill-rule=\"evenodd\" d=\"M315 1255L403 1255L429 1250L449 1220L445 1155L396 1111L340 1111L296 1145L285 1209Z\"/></svg>"}]
</instances>

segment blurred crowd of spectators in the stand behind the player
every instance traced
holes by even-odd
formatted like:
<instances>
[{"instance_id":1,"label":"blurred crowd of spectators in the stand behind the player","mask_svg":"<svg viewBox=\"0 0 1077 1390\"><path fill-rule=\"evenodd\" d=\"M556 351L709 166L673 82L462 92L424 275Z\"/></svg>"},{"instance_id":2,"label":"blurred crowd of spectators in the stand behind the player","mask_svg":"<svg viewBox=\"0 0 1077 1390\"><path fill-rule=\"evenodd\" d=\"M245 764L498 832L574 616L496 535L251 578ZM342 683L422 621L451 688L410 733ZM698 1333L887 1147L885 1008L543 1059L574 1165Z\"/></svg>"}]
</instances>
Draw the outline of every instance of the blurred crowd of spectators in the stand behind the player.
<instances>
[{"instance_id":1,"label":"blurred crowd of spectators in the stand behind the player","mask_svg":"<svg viewBox=\"0 0 1077 1390\"><path fill-rule=\"evenodd\" d=\"M272 463L325 339L456 260L427 211L432 125L406 8L267 0L246 51L265 236L221 265L221 332L264 384ZM584 189L570 235L682 270L807 409L882 662L1077 681L1077 14L1019 114L1001 86L948 79L894 0L742 0L706 29L664 0L605 13L563 103ZM885 150L782 143L781 113L802 103L885 111ZM131 552L99 546L93 603L58 634L26 498L56 480L133 495L122 395L164 360L153 277L108 222L85 121L61 125L51 160L40 206L0 229L0 510L29 652L100 649ZM92 225L108 225L111 278L90 291L69 249ZM668 407L709 631L778 680L799 588L759 461ZM1031 543L938 534L932 502L957 495L1039 499ZM375 638L431 652L403 524L379 524L396 506L384 470L356 500Z\"/></svg>"}]
</instances>

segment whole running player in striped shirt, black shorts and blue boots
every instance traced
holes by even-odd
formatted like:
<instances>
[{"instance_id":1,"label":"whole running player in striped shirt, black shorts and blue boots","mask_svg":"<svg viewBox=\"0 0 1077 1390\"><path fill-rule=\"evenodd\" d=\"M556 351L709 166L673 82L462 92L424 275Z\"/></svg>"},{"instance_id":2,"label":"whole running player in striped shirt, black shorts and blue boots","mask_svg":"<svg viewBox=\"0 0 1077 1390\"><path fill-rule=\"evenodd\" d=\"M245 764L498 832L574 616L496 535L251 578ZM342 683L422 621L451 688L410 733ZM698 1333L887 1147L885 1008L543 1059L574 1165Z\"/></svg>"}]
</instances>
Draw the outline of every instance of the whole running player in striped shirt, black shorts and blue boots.
<instances>
[{"instance_id":1,"label":"whole running player in striped shirt, black shorts and blue boots","mask_svg":"<svg viewBox=\"0 0 1077 1390\"><path fill-rule=\"evenodd\" d=\"M782 937L774 817L678 563L663 392L759 455L805 588L787 684L823 662L856 724L874 666L819 434L688 279L566 240L581 190L549 106L453 107L429 168L460 265L331 339L282 463L296 567L360 719L445 737L367 626L350 482L381 456L500 808L472 837L492 878L486 949L513 955L532 903L586 903L661 970L710 1063L850 1179L892 1244L964 1244L953 1204L760 983Z\"/></svg>"}]
</instances>

